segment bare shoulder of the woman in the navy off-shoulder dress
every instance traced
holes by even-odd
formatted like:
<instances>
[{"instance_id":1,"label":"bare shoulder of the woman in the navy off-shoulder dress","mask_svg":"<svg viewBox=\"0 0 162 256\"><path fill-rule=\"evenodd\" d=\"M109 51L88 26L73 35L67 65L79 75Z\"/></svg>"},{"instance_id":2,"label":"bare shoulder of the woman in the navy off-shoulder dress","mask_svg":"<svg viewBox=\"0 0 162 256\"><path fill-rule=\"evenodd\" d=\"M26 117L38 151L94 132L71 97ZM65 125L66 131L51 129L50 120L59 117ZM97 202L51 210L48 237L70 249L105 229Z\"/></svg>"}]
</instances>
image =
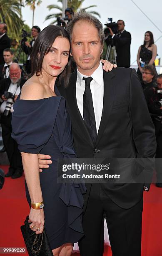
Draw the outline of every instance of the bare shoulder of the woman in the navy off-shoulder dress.
<instances>
[{"instance_id":1,"label":"bare shoulder of the woman in the navy off-shoulder dress","mask_svg":"<svg viewBox=\"0 0 162 256\"><path fill-rule=\"evenodd\" d=\"M45 88L37 80L29 79L22 86L20 100L40 100L45 97Z\"/></svg>"}]
</instances>

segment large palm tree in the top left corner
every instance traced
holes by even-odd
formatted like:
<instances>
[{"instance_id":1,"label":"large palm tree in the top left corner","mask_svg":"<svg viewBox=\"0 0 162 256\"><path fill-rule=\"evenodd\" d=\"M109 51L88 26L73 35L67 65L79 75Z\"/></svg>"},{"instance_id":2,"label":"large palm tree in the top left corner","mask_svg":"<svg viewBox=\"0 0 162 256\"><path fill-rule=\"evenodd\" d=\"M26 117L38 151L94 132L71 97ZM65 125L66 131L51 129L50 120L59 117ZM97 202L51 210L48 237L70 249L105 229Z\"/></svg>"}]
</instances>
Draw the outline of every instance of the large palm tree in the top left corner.
<instances>
[{"instance_id":1,"label":"large palm tree in the top left corner","mask_svg":"<svg viewBox=\"0 0 162 256\"><path fill-rule=\"evenodd\" d=\"M0 0L0 21L7 24L11 38L18 38L23 21L20 18L19 0Z\"/></svg>"}]
</instances>

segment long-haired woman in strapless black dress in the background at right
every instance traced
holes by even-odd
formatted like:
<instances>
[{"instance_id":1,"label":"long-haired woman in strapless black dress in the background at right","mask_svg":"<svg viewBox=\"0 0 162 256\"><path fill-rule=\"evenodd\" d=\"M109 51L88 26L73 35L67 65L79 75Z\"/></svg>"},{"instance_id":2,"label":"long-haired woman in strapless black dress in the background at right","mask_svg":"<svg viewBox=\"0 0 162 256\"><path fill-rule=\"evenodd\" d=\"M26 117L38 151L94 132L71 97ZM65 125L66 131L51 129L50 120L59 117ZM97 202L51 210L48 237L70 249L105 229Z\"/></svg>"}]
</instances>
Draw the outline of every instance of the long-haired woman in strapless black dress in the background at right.
<instances>
[{"instance_id":1,"label":"long-haired woman in strapless black dress in the background at right","mask_svg":"<svg viewBox=\"0 0 162 256\"><path fill-rule=\"evenodd\" d=\"M156 59L156 56L157 56L157 46L156 44L154 44L153 34L151 31L147 31L145 33L144 44L140 46L137 54L137 64L138 64L137 74L140 81L142 81L142 67L144 67L145 65L153 65L155 68L154 61Z\"/></svg>"}]
</instances>

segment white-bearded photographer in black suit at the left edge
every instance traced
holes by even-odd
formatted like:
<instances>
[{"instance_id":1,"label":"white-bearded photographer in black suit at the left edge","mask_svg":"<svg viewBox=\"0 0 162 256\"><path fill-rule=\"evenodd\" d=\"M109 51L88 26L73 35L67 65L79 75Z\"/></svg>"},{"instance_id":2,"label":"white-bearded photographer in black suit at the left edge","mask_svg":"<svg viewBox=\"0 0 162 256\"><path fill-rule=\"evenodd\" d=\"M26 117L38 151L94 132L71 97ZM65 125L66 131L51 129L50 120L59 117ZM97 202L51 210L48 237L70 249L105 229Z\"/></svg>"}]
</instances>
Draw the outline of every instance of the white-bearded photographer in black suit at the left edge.
<instances>
[{"instance_id":1,"label":"white-bearded photographer in black suit at the left edge","mask_svg":"<svg viewBox=\"0 0 162 256\"><path fill-rule=\"evenodd\" d=\"M17 63L10 65L9 78L0 81L2 138L10 162L8 173L5 176L12 177L12 179L21 177L23 170L20 151L17 148L17 143L11 138L12 105L25 82L26 80L21 78L21 69Z\"/></svg>"}]
</instances>

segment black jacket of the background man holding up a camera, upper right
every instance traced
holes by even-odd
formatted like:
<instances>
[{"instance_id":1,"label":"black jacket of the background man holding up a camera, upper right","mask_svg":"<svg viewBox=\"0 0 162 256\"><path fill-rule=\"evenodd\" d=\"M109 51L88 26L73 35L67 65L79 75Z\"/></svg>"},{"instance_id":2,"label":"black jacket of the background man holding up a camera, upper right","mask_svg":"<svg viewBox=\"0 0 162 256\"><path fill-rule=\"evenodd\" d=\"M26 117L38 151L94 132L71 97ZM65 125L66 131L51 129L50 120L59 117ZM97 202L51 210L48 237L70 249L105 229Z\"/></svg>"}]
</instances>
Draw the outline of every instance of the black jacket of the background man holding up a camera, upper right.
<instances>
[{"instance_id":1,"label":"black jacket of the background man holding up a camera, upper right","mask_svg":"<svg viewBox=\"0 0 162 256\"><path fill-rule=\"evenodd\" d=\"M123 31L120 37L115 35L113 41L117 51L117 66L130 67L130 32Z\"/></svg>"}]
</instances>

